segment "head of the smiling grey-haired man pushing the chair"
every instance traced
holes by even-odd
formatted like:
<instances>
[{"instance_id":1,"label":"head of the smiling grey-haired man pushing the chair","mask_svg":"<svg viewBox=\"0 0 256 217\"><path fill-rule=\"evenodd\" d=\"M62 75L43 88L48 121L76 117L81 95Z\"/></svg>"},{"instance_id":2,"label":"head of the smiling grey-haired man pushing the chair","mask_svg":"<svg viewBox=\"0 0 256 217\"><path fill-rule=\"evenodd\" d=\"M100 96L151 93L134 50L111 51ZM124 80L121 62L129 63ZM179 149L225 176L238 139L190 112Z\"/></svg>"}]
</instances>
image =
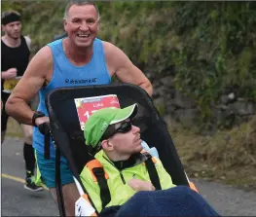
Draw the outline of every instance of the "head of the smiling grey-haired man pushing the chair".
<instances>
[{"instance_id":1,"label":"head of the smiling grey-haired man pushing the chair","mask_svg":"<svg viewBox=\"0 0 256 217\"><path fill-rule=\"evenodd\" d=\"M70 40L78 47L91 47L98 31L99 20L93 5L73 5L64 28Z\"/></svg>"}]
</instances>

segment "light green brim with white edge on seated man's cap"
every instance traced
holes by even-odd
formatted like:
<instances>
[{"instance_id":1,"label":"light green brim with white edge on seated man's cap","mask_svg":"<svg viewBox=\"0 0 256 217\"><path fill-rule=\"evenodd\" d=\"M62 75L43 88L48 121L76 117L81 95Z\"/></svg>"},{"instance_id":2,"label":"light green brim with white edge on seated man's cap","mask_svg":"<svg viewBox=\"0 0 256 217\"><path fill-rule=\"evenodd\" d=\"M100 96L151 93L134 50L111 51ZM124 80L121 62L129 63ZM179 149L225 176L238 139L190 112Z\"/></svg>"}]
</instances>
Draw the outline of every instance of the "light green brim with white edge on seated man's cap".
<instances>
[{"instance_id":1,"label":"light green brim with white edge on seated man's cap","mask_svg":"<svg viewBox=\"0 0 256 217\"><path fill-rule=\"evenodd\" d=\"M120 109L114 120L111 121L110 125L114 125L125 121L128 118L134 118L137 114L137 104L130 105L124 109Z\"/></svg>"}]
</instances>

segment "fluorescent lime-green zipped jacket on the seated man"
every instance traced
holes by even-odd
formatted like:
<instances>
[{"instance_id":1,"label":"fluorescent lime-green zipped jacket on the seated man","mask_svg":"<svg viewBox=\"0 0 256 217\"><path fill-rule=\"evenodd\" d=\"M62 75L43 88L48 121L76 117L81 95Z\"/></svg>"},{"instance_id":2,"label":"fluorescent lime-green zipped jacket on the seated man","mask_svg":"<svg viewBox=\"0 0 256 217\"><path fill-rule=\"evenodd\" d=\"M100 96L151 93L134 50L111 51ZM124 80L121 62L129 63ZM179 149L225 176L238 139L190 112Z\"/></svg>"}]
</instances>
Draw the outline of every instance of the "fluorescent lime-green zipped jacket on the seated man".
<instances>
[{"instance_id":1,"label":"fluorescent lime-green zipped jacket on the seated man","mask_svg":"<svg viewBox=\"0 0 256 217\"><path fill-rule=\"evenodd\" d=\"M105 172L109 176L107 184L110 191L111 200L106 206L122 205L136 192L128 186L128 180L135 178L144 181L150 181L150 177L146 168L145 163L138 163L132 167L119 170L106 156L106 154L100 150L96 155L95 159L98 160L104 167ZM160 183L162 189L169 189L175 185L172 183L171 177L165 171L165 168L161 161L157 158L156 168L159 174ZM93 181L92 173L89 167L86 165L80 174L83 185L85 186L88 194L95 205L98 212L101 211L101 199L100 190L97 182Z\"/></svg>"}]
</instances>

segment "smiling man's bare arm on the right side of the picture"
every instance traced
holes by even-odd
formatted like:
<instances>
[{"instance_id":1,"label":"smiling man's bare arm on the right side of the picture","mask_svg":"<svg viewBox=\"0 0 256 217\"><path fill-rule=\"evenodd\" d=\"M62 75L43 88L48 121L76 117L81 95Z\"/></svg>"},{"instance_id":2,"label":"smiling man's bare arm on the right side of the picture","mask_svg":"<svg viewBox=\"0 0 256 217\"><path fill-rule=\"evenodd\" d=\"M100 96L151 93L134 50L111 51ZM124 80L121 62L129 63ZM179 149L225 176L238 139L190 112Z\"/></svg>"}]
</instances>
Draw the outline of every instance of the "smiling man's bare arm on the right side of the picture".
<instances>
[{"instance_id":1,"label":"smiling man's bare arm on the right side of the picture","mask_svg":"<svg viewBox=\"0 0 256 217\"><path fill-rule=\"evenodd\" d=\"M122 50L108 42L103 42L103 48L111 76L116 75L123 83L137 85L152 96L153 88L150 81Z\"/></svg>"}]
</instances>

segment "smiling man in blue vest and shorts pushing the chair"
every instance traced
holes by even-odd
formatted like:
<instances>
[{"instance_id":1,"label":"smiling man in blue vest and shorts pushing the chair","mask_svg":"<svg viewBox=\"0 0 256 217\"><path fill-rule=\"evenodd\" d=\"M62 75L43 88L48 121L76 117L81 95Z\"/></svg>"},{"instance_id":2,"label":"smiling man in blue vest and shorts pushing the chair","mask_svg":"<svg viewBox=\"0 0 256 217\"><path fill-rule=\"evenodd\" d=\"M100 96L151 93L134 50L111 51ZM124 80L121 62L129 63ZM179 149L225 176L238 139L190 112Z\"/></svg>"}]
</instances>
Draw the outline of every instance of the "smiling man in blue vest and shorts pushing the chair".
<instances>
[{"instance_id":1,"label":"smiling man in blue vest and shorts pushing the chair","mask_svg":"<svg viewBox=\"0 0 256 217\"><path fill-rule=\"evenodd\" d=\"M38 129L38 126L49 122L46 94L60 87L110 84L112 76L123 83L141 87L149 95L153 91L150 81L123 51L96 38L99 20L98 9L91 1L69 3L63 22L67 37L48 44L32 58L6 103L8 113L18 122L35 126L33 146L41 180L50 189L55 201L55 146L51 142L50 159L45 159L44 135ZM37 92L40 103L35 112L29 108L27 101ZM66 214L74 216L75 201L80 196L64 158L61 158L60 168Z\"/></svg>"}]
</instances>

